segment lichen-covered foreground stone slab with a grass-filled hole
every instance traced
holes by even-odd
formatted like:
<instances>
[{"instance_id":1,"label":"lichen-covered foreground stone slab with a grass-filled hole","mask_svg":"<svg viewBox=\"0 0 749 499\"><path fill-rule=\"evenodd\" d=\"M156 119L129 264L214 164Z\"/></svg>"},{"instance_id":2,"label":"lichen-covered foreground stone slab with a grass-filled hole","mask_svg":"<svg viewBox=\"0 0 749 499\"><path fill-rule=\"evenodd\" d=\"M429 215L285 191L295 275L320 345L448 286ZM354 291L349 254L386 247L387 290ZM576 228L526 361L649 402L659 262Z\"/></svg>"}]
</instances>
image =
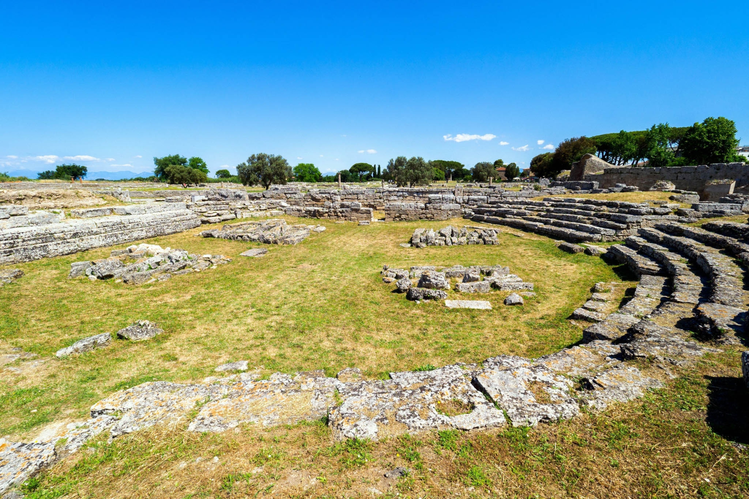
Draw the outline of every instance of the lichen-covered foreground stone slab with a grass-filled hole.
<instances>
[{"instance_id":1,"label":"lichen-covered foreground stone slab with a grass-filled hole","mask_svg":"<svg viewBox=\"0 0 749 499\"><path fill-rule=\"evenodd\" d=\"M392 379L346 383L341 405L330 411L333 437L372 438L425 429L477 429L503 426L504 414L471 384L458 365L423 372L390 373ZM449 403L462 414L440 412Z\"/></svg>"}]
</instances>

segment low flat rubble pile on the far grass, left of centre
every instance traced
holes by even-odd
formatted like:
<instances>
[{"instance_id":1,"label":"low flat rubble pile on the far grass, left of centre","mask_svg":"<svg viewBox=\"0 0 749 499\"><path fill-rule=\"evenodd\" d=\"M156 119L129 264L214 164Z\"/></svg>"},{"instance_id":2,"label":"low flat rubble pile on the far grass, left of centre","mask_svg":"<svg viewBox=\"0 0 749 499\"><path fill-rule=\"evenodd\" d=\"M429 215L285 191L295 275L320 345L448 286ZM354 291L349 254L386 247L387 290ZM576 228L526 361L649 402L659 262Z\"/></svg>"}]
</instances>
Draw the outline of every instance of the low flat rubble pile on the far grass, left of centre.
<instances>
[{"instance_id":1,"label":"low flat rubble pile on the far grass, left of centre","mask_svg":"<svg viewBox=\"0 0 749 499\"><path fill-rule=\"evenodd\" d=\"M272 245L295 245L309 236L311 230L321 225L288 225L285 220L273 218L265 221L246 221L228 224L221 229L203 230L203 237L219 237L234 241L264 242ZM319 230L316 232L320 232Z\"/></svg>"}]
</instances>

